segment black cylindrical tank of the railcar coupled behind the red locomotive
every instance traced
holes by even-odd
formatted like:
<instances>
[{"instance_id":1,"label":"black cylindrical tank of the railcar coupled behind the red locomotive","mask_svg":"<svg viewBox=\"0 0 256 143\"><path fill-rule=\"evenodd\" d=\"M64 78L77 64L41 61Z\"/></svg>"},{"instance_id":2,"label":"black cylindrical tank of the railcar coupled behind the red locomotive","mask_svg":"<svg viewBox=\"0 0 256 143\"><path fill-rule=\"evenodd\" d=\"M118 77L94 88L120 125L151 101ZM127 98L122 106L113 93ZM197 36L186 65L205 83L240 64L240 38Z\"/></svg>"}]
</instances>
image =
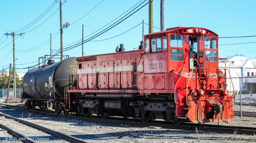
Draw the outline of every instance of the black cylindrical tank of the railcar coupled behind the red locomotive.
<instances>
[{"instance_id":1,"label":"black cylindrical tank of the railcar coupled behind the red locomotive","mask_svg":"<svg viewBox=\"0 0 256 143\"><path fill-rule=\"evenodd\" d=\"M75 57L33 68L23 78L23 98L53 100L54 92L55 98L64 98L65 86L72 74L77 74Z\"/></svg>"}]
</instances>

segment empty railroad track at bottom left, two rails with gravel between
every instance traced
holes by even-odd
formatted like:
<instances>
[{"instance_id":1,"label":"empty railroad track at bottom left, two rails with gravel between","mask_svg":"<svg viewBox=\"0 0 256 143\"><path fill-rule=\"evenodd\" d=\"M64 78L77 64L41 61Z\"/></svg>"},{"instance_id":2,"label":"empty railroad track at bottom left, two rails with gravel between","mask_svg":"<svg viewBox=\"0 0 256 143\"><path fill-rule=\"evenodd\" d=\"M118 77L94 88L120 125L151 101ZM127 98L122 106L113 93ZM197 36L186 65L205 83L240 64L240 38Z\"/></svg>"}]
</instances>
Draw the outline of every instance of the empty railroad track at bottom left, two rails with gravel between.
<instances>
[{"instance_id":1,"label":"empty railroad track at bottom left, two rails with gravel between","mask_svg":"<svg viewBox=\"0 0 256 143\"><path fill-rule=\"evenodd\" d=\"M5 140L7 141L19 140L23 142L38 142L38 141L87 142L79 138L76 138L58 131L54 131L44 126L40 126L38 124L31 123L7 114L0 113L0 116L2 116L1 118L2 123L0 123L0 126L3 129L9 131L13 135L13 137L6 137ZM14 121L8 122L8 123L14 123L14 124L4 125L3 122L5 123L7 122L7 120L14 120ZM11 127L15 126L16 129L12 129L10 126ZM27 131L27 129L29 129L29 131ZM21 132L24 132L24 133L22 134ZM62 138L62 139L59 139L59 138Z\"/></svg>"}]
</instances>

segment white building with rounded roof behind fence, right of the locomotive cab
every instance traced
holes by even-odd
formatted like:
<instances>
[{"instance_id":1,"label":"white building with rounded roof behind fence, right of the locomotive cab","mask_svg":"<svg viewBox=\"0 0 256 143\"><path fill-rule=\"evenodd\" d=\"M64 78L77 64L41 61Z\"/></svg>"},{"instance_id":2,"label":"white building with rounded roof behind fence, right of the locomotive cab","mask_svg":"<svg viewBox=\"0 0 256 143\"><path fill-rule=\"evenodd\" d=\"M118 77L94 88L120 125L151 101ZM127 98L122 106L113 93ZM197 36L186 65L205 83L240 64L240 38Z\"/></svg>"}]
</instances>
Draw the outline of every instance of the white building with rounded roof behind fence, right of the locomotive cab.
<instances>
[{"instance_id":1,"label":"white building with rounded roof behind fence, right of the locomotive cab","mask_svg":"<svg viewBox=\"0 0 256 143\"><path fill-rule=\"evenodd\" d=\"M242 93L256 93L255 65L256 59L252 60L243 55L219 58L219 67L227 69L227 89L230 92L240 91L241 89Z\"/></svg>"}]
</instances>

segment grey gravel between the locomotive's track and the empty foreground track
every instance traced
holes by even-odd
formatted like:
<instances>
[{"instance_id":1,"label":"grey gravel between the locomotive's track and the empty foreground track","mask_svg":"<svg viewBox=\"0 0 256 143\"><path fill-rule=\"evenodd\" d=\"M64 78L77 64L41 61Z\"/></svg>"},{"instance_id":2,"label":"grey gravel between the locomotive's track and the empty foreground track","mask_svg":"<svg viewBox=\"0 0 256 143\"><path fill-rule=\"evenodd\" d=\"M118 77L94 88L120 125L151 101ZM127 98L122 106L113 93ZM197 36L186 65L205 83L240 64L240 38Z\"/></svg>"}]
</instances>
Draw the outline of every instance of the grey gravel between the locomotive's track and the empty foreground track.
<instances>
[{"instance_id":1,"label":"grey gravel between the locomotive's track and the empty foreground track","mask_svg":"<svg viewBox=\"0 0 256 143\"><path fill-rule=\"evenodd\" d=\"M29 122L44 125L50 129L70 134L90 142L256 142L256 135L240 135L236 133L222 134L205 131L185 131L111 123L96 123L28 113L4 107L0 108L0 112L15 117L22 117ZM245 124L243 121L233 121L228 125L242 126L241 124ZM254 124L255 126L256 123L247 122L247 125L248 124Z\"/></svg>"}]
</instances>

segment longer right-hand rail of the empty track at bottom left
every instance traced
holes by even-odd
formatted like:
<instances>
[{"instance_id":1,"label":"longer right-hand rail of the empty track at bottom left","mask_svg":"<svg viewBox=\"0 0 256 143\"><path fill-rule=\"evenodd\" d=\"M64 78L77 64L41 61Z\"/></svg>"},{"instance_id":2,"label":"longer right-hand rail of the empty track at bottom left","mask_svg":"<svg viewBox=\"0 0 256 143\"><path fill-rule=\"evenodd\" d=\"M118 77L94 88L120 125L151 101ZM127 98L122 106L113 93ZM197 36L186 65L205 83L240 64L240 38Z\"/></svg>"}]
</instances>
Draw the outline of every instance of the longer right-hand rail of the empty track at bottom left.
<instances>
[{"instance_id":1,"label":"longer right-hand rail of the empty track at bottom left","mask_svg":"<svg viewBox=\"0 0 256 143\"><path fill-rule=\"evenodd\" d=\"M19 119L19 118L16 118L16 117L13 117L13 116L10 116L10 115L7 115L7 114L0 113L0 115L5 116L6 118L10 118L12 120L15 120L17 122L29 125L31 127L37 128L39 130L48 132L48 133L53 134L55 136L62 137L64 139L67 139L67 140L72 141L72 142L88 142L88 141L84 141L84 140L81 140L79 138L76 138L76 137L73 137L73 136L70 136L70 135L67 135L67 134L64 134L64 133L52 130L52 129L44 127L44 126L40 126L38 124L31 123L31 122L28 122L28 121L25 121L25 120L22 120L22 119Z\"/></svg>"}]
</instances>

